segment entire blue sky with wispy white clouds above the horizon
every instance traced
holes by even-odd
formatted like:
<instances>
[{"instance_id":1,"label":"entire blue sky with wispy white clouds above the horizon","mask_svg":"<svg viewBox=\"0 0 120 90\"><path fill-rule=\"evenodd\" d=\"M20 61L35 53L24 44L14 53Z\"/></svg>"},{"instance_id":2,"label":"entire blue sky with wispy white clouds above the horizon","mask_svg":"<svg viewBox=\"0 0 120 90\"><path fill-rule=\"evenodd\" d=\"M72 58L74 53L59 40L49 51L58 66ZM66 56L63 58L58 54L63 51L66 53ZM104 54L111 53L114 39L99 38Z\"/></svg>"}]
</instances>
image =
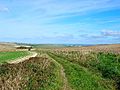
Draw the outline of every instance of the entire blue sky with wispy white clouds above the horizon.
<instances>
[{"instance_id":1,"label":"entire blue sky with wispy white clouds above the horizon","mask_svg":"<svg viewBox=\"0 0 120 90\"><path fill-rule=\"evenodd\" d=\"M0 41L120 43L120 0L0 0Z\"/></svg>"}]
</instances>

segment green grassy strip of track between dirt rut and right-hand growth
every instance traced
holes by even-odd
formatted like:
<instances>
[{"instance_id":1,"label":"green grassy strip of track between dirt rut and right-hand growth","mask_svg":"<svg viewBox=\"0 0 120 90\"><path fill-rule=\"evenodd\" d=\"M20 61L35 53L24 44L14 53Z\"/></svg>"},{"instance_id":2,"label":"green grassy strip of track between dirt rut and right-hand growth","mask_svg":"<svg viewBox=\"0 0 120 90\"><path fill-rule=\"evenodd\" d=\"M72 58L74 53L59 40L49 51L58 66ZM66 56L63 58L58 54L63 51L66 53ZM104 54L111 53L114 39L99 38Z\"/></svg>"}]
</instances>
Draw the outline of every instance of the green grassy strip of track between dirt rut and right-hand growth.
<instances>
[{"instance_id":1,"label":"green grassy strip of track between dirt rut and right-hand growth","mask_svg":"<svg viewBox=\"0 0 120 90\"><path fill-rule=\"evenodd\" d=\"M95 75L87 68L71 63L61 56L49 53L57 62L63 65L68 82L74 90L113 90L112 82L107 82L100 75Z\"/></svg>"}]
</instances>

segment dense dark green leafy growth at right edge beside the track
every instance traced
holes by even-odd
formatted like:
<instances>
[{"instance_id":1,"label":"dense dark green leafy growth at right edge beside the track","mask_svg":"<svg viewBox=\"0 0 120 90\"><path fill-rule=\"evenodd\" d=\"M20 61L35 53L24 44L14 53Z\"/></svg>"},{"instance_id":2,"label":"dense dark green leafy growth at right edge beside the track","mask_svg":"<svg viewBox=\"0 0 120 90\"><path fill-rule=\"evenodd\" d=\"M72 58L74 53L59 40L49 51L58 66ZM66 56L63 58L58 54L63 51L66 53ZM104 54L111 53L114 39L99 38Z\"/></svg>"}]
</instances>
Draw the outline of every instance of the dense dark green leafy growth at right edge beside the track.
<instances>
[{"instance_id":1,"label":"dense dark green leafy growth at right edge beside the track","mask_svg":"<svg viewBox=\"0 0 120 90\"><path fill-rule=\"evenodd\" d=\"M120 89L120 55L112 53L98 53L98 60L88 61L91 69L97 70L104 78L114 80L116 88Z\"/></svg>"}]
</instances>

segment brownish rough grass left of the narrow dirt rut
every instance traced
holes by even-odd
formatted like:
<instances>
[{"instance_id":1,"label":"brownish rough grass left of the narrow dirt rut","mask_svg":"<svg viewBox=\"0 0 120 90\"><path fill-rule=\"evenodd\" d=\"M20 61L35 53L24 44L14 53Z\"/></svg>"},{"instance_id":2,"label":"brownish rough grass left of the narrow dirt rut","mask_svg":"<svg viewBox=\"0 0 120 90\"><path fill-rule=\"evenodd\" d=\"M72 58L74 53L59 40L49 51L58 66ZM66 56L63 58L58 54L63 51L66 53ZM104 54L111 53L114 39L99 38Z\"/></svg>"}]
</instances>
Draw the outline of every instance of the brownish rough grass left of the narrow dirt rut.
<instances>
[{"instance_id":1,"label":"brownish rough grass left of the narrow dirt rut","mask_svg":"<svg viewBox=\"0 0 120 90\"><path fill-rule=\"evenodd\" d=\"M60 90L58 66L45 57L0 65L0 90Z\"/></svg>"}]
</instances>

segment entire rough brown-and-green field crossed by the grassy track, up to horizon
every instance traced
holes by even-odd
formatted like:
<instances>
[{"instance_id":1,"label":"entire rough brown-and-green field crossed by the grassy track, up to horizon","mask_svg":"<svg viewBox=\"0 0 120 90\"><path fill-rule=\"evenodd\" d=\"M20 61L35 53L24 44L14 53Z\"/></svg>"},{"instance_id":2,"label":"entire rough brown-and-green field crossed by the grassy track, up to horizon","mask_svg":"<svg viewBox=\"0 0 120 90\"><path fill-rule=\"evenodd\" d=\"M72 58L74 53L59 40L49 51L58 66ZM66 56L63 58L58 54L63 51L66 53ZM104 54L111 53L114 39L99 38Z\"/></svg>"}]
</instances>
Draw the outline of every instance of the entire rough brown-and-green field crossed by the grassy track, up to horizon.
<instances>
[{"instance_id":1,"label":"entire rough brown-and-green field crossed by the grassy track, up to horizon","mask_svg":"<svg viewBox=\"0 0 120 90\"><path fill-rule=\"evenodd\" d=\"M120 90L120 45L37 47L37 57L0 65L0 90Z\"/></svg>"}]
</instances>

